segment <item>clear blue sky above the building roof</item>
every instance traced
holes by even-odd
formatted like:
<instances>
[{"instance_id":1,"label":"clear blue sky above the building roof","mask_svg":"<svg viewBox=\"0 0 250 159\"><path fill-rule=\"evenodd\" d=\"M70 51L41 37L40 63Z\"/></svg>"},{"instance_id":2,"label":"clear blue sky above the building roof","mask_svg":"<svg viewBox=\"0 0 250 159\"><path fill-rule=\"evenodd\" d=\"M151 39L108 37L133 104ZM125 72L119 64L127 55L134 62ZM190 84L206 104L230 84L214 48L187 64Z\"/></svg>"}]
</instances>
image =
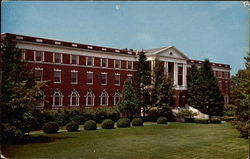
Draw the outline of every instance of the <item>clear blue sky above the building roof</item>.
<instances>
[{"instance_id":1,"label":"clear blue sky above the building roof","mask_svg":"<svg viewBox=\"0 0 250 159\"><path fill-rule=\"evenodd\" d=\"M114 48L175 46L191 59L243 69L249 6L240 1L5 1L1 33Z\"/></svg>"}]
</instances>

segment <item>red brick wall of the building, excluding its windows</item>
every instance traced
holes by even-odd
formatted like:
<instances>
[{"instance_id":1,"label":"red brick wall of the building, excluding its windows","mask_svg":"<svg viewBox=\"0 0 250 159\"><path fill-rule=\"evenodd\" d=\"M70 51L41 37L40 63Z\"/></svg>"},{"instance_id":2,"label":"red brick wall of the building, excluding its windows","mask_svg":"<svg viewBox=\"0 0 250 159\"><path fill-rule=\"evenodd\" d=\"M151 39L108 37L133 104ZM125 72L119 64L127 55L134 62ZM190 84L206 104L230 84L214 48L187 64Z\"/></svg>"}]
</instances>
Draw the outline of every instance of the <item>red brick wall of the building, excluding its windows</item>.
<instances>
[{"instance_id":1,"label":"red brick wall of the building, excluding its windows","mask_svg":"<svg viewBox=\"0 0 250 159\"><path fill-rule=\"evenodd\" d=\"M37 37L28 37L14 34L5 34L10 38L14 38L17 42L17 47L22 49L23 60L27 62L29 69L43 70L42 80L48 80L47 86L43 88L45 94L44 108L53 109L53 94L54 91L61 91L63 94L62 107L70 107L70 94L73 90L79 93L79 106L86 106L86 94L88 91L92 91L95 95L94 106L100 106L100 95L103 91L106 91L109 95L108 106L114 105L114 94L116 92L121 93L124 81L136 71L137 56L136 52L121 50L115 48L107 48L93 45L76 44L63 41L55 41ZM1 35L2 37L2 35ZM36 61L36 51L42 51L42 61ZM172 50L175 51L175 50ZM177 50L178 52L178 50ZM54 62L55 53L60 53L62 56L61 63ZM165 55L169 54L169 50L165 52ZM77 64L71 64L72 55L78 57ZM171 54L172 55L172 54ZM87 57L94 58L93 66L87 66ZM170 67L172 63L174 69L173 76L175 80L175 91L171 101L172 106L185 106L186 104L186 74L192 64L200 67L202 61L179 58L177 54L173 54L173 58L168 56L161 56L160 60L164 61L164 67ZM154 59L156 56L149 55L148 63L152 69ZM101 67L101 58L108 59L108 66ZM114 61L120 60L120 68L114 68ZM127 69L127 61L132 61L133 68ZM178 65L182 67L182 85L178 85ZM165 68L165 69L166 69ZM229 102L230 96L230 66L226 64L212 63L214 75L218 80L218 84L224 97L228 97L225 102ZM54 70L61 70L61 83L54 82ZM71 83L71 71L78 72L77 84ZM166 70L164 70L166 71ZM87 72L93 72L93 84L87 84ZM168 72L168 71L166 71ZM107 85L101 84L101 73L107 73ZM115 85L114 75L120 74L120 85Z\"/></svg>"}]
</instances>

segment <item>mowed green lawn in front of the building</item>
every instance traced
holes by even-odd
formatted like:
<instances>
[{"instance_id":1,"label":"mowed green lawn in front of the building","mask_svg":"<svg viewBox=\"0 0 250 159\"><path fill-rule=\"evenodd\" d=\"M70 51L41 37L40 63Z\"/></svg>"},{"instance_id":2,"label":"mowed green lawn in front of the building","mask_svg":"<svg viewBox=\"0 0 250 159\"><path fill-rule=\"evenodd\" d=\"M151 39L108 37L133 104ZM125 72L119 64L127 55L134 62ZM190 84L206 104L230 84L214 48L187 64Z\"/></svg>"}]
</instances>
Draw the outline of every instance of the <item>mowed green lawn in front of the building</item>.
<instances>
[{"instance_id":1,"label":"mowed green lawn in front of the building","mask_svg":"<svg viewBox=\"0 0 250 159\"><path fill-rule=\"evenodd\" d=\"M81 126L82 128L82 126ZM23 145L2 145L10 158L55 159L246 159L248 140L229 123L146 124L57 134L33 133L53 141Z\"/></svg>"}]
</instances>

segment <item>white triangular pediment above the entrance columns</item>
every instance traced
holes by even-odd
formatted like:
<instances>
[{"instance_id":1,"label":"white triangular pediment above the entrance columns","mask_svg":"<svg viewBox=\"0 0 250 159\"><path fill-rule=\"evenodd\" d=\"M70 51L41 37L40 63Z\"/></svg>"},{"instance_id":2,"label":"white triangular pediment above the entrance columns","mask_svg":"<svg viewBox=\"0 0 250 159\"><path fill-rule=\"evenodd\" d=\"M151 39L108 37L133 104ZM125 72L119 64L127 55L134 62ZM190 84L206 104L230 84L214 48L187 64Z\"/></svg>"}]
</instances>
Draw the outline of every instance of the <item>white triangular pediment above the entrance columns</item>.
<instances>
[{"instance_id":1,"label":"white triangular pediment above the entrance columns","mask_svg":"<svg viewBox=\"0 0 250 159\"><path fill-rule=\"evenodd\" d=\"M188 59L188 57L185 54L183 54L174 46L166 47L165 49L159 50L158 52L155 52L155 55L164 57L173 57L179 59Z\"/></svg>"}]
</instances>

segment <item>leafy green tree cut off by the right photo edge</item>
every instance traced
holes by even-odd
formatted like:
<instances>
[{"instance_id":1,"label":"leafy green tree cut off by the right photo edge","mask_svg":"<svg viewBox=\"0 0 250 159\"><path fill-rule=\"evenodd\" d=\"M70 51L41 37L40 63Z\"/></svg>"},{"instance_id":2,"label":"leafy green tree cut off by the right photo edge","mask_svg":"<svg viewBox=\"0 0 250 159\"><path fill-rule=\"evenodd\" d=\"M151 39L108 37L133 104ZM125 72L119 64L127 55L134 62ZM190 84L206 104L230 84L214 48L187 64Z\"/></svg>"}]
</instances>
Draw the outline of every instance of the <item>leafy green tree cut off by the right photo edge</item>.
<instances>
[{"instance_id":1,"label":"leafy green tree cut off by the right photo edge","mask_svg":"<svg viewBox=\"0 0 250 159\"><path fill-rule=\"evenodd\" d=\"M234 126L241 132L243 137L249 137L250 129L250 53L245 57L246 69L239 70L231 78L231 100L236 106Z\"/></svg>"}]
</instances>

